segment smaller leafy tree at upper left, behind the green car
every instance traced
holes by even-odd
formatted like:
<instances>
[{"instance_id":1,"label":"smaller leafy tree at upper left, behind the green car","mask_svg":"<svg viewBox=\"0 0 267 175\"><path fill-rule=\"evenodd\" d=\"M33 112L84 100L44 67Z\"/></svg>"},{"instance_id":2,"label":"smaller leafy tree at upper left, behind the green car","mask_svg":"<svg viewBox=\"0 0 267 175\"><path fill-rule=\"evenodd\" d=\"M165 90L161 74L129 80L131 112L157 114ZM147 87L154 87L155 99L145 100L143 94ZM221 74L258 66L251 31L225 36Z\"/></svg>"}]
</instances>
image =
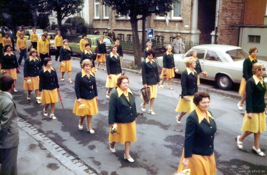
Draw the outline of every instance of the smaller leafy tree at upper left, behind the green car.
<instances>
[{"instance_id":1,"label":"smaller leafy tree at upper left, behind the green car","mask_svg":"<svg viewBox=\"0 0 267 175\"><path fill-rule=\"evenodd\" d=\"M40 0L42 6L39 12L50 13L51 10L56 12L58 29L61 30L62 19L75 14L84 5L83 0Z\"/></svg>"}]
</instances>

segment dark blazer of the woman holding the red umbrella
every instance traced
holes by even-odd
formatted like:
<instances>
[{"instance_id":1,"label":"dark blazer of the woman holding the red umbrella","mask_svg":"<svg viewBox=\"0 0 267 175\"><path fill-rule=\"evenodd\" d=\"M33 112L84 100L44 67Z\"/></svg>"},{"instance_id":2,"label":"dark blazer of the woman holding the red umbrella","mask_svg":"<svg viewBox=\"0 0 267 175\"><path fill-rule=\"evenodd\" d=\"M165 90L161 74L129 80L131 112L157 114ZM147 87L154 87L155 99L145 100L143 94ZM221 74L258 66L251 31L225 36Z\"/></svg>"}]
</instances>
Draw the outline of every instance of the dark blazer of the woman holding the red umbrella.
<instances>
[{"instance_id":1,"label":"dark blazer of the woman holding the red umbrella","mask_svg":"<svg viewBox=\"0 0 267 175\"><path fill-rule=\"evenodd\" d=\"M52 90L59 88L56 70L51 67L51 73L48 72L46 67L40 70L39 75L39 91L43 89Z\"/></svg>"}]
</instances>

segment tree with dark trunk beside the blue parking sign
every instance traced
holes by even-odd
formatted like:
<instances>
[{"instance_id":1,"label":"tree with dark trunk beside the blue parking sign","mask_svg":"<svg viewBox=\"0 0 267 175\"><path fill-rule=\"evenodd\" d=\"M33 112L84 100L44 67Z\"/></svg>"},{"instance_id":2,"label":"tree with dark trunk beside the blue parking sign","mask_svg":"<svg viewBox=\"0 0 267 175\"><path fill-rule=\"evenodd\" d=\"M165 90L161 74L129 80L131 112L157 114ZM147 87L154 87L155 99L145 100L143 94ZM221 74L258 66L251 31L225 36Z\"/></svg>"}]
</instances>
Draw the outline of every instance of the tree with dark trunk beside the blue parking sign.
<instances>
[{"instance_id":1,"label":"tree with dark trunk beside the blue parking sign","mask_svg":"<svg viewBox=\"0 0 267 175\"><path fill-rule=\"evenodd\" d=\"M132 34L133 34L133 47L135 64L141 65L141 55L139 47L138 35L138 20L146 19L152 13L167 15L172 10L172 4L178 2L177 0L103 0L103 4L108 5L120 15L128 15L130 17Z\"/></svg>"}]
</instances>

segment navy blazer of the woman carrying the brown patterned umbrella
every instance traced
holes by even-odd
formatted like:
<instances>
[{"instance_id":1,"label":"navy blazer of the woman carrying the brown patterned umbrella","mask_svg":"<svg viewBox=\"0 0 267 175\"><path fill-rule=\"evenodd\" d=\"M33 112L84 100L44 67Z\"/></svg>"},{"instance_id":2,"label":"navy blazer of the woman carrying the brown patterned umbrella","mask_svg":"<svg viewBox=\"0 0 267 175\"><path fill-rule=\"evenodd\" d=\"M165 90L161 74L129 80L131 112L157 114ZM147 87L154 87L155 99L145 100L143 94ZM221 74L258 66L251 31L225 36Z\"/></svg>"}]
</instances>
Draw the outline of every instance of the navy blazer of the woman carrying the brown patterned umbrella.
<instances>
[{"instance_id":1,"label":"navy blazer of the woman carrying the brown patterned umbrella","mask_svg":"<svg viewBox=\"0 0 267 175\"><path fill-rule=\"evenodd\" d=\"M152 61L151 64L150 61L147 63L146 61L147 60L145 59L141 64L143 85L156 85L160 82L157 63Z\"/></svg>"}]
</instances>

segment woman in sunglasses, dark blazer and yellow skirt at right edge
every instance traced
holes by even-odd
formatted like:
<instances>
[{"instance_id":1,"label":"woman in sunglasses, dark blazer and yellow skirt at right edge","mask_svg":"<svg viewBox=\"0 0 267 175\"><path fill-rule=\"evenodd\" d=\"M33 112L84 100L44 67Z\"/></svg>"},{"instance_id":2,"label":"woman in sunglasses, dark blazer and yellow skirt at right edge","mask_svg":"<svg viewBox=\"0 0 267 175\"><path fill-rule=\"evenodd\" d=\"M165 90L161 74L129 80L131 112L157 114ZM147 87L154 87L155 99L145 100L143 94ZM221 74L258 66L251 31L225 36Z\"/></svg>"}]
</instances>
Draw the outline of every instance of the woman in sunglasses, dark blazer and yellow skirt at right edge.
<instances>
[{"instance_id":1,"label":"woman in sunglasses, dark blazer and yellow skirt at right edge","mask_svg":"<svg viewBox=\"0 0 267 175\"><path fill-rule=\"evenodd\" d=\"M243 120L241 131L243 134L237 136L237 146L243 149L243 140L250 134L254 134L254 145L251 148L252 152L265 157L265 154L260 149L261 131L266 131L266 105L264 94L266 85L262 79L264 71L262 63L254 63L252 66L253 76L246 82L246 112Z\"/></svg>"}]
</instances>

